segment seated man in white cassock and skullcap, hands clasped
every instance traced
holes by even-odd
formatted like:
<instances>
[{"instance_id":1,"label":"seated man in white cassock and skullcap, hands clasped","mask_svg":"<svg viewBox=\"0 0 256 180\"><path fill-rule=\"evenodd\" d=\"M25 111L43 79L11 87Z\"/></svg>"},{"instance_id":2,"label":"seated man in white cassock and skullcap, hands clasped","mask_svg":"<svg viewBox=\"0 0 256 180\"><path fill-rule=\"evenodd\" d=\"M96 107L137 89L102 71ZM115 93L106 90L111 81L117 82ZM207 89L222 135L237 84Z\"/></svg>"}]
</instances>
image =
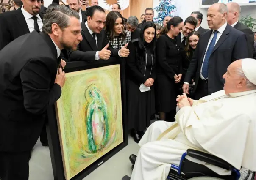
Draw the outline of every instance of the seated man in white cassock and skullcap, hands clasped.
<instances>
[{"instance_id":1,"label":"seated man in white cassock and skullcap, hands clasped","mask_svg":"<svg viewBox=\"0 0 256 180\"><path fill-rule=\"evenodd\" d=\"M224 90L192 100L178 96L173 123L156 121L139 146L131 180L166 180L187 149L200 150L235 168L256 171L256 60L237 60L223 75ZM135 156L135 155L134 155ZM220 175L225 169L189 158Z\"/></svg>"}]
</instances>

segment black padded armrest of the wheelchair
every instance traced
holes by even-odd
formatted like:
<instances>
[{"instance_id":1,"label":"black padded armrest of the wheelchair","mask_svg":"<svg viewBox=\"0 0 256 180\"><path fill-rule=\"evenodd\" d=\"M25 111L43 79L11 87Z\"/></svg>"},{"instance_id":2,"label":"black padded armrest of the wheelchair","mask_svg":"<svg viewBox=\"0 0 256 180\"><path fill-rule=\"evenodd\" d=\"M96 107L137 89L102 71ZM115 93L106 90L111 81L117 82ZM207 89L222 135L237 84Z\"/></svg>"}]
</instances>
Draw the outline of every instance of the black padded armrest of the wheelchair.
<instances>
[{"instance_id":1,"label":"black padded armrest of the wheelchair","mask_svg":"<svg viewBox=\"0 0 256 180\"><path fill-rule=\"evenodd\" d=\"M200 161L204 161L206 163L212 164L214 166L218 166L226 170L236 169L234 166L224 161L223 159L218 158L215 155L211 155L211 154L204 153L198 150L193 150L193 149L188 149L186 152L188 156L198 159Z\"/></svg>"}]
</instances>

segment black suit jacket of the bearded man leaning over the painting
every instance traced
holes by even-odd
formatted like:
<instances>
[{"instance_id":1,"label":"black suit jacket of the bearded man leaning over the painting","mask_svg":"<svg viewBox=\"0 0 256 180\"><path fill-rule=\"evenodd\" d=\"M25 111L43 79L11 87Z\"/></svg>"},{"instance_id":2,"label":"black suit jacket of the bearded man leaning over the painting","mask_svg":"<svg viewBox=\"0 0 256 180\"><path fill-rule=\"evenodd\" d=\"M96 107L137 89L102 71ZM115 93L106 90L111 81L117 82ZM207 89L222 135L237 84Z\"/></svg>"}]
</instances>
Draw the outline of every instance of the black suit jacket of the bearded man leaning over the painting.
<instances>
[{"instance_id":1,"label":"black suit jacket of the bearded man leaning over the painting","mask_svg":"<svg viewBox=\"0 0 256 180\"><path fill-rule=\"evenodd\" d=\"M46 110L61 96L57 50L49 35L22 35L0 51L0 152L32 150Z\"/></svg>"}]
</instances>

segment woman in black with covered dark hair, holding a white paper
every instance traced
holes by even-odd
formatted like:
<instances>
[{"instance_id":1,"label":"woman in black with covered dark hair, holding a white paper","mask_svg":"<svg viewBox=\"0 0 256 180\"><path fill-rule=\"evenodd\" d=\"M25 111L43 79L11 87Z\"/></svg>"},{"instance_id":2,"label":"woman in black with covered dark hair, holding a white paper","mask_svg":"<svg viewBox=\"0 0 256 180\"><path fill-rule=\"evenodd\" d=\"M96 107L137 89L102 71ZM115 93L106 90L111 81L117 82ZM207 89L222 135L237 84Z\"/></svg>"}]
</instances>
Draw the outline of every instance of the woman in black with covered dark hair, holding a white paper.
<instances>
[{"instance_id":1,"label":"woman in black with covered dark hair, holding a white paper","mask_svg":"<svg viewBox=\"0 0 256 180\"><path fill-rule=\"evenodd\" d=\"M130 49L126 58L128 125L135 142L139 142L143 131L150 125L150 116L155 113L155 44L156 25L145 22L139 39L127 46ZM143 92L142 87L150 90Z\"/></svg>"}]
</instances>

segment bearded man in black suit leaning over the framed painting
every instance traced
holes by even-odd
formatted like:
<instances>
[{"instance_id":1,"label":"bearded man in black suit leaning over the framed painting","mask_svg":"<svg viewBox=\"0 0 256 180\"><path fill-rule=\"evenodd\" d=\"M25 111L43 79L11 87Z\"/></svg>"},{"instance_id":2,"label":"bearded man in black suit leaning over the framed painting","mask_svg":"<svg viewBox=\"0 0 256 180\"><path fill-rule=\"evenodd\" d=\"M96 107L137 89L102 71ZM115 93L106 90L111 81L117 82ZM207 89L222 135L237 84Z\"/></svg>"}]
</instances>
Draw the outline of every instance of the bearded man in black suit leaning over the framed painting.
<instances>
[{"instance_id":1,"label":"bearded man in black suit leaning over the framed painting","mask_svg":"<svg viewBox=\"0 0 256 180\"><path fill-rule=\"evenodd\" d=\"M0 51L1 180L28 180L30 152L65 82L61 49L75 50L81 40L78 13L56 5L48 8L42 32L22 35Z\"/></svg>"}]
</instances>

